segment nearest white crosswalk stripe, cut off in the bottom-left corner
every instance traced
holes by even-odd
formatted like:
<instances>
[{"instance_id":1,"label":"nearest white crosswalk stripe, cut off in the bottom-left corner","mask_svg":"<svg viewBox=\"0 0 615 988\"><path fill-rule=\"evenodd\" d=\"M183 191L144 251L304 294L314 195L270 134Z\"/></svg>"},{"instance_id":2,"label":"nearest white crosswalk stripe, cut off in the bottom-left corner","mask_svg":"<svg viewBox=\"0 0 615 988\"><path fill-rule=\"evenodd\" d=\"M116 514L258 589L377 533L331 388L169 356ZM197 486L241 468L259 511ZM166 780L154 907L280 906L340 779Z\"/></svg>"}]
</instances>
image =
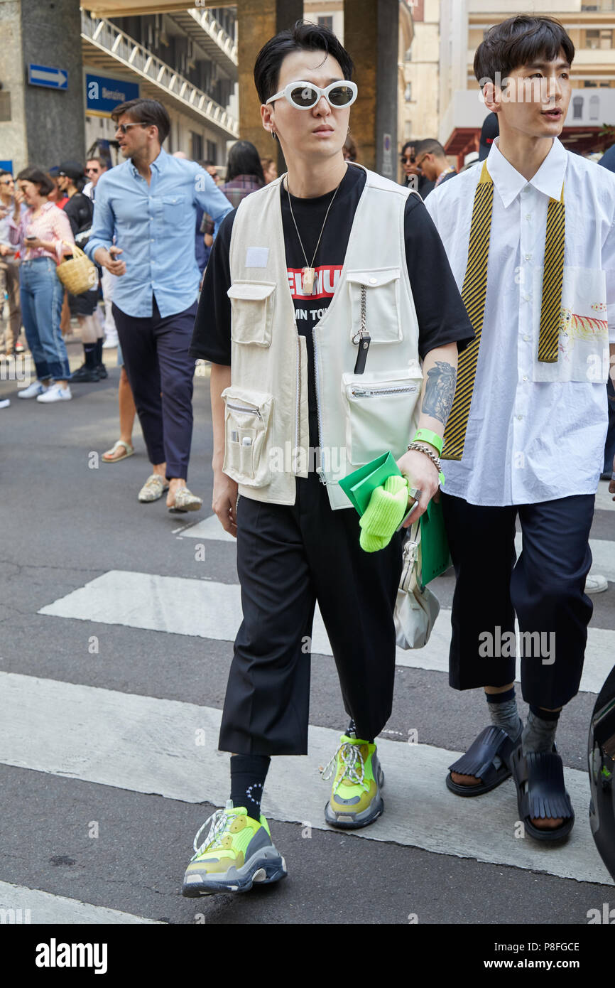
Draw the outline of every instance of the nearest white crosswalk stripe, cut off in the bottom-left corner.
<instances>
[{"instance_id":1,"label":"nearest white crosswalk stripe, cut off in the bottom-left corner","mask_svg":"<svg viewBox=\"0 0 615 988\"><path fill-rule=\"evenodd\" d=\"M166 926L159 920L148 920L143 916L133 916L106 906L93 906L79 899L67 899L63 895L52 895L38 888L13 885L0 881L0 923L2 924L66 924L85 923L100 926L114 924L154 924Z\"/></svg>"}]
</instances>

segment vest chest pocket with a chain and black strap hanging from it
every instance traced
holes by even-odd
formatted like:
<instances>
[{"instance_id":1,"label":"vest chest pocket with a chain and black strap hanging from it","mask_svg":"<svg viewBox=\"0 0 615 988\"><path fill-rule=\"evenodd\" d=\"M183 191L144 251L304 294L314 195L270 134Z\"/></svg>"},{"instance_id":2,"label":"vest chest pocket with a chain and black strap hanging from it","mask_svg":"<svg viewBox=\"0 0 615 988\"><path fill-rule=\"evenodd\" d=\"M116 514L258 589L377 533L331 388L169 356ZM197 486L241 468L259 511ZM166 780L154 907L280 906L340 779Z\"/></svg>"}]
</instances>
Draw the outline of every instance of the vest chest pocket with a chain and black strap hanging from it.
<instances>
[{"instance_id":1,"label":"vest chest pocket with a chain and black strap hanging from it","mask_svg":"<svg viewBox=\"0 0 615 988\"><path fill-rule=\"evenodd\" d=\"M374 271L348 271L353 337L361 325L361 289L365 290L365 328L372 343L398 343L402 340L400 319L399 268Z\"/></svg>"}]
</instances>

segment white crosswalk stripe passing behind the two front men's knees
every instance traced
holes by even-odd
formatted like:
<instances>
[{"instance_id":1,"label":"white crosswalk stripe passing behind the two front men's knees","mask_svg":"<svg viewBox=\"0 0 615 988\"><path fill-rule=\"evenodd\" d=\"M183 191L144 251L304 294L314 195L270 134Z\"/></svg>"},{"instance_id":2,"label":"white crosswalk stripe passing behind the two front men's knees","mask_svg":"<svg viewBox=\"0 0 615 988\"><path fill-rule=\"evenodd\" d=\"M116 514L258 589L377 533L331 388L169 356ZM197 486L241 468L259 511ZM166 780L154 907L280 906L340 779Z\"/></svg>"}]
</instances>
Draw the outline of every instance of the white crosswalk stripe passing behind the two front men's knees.
<instances>
[{"instance_id":1,"label":"white crosswalk stripe passing behind the two front men's knees","mask_svg":"<svg viewBox=\"0 0 615 988\"><path fill-rule=\"evenodd\" d=\"M242 619L238 584L125 570L110 570L96 577L84 587L41 608L38 614L124 624L219 641L234 641ZM450 611L443 608L424 648L411 651L398 648L396 665L447 672L450 634ZM333 655L318 608L312 651ZM614 655L615 631L590 627L581 691L600 692L611 671Z\"/></svg>"}]
</instances>

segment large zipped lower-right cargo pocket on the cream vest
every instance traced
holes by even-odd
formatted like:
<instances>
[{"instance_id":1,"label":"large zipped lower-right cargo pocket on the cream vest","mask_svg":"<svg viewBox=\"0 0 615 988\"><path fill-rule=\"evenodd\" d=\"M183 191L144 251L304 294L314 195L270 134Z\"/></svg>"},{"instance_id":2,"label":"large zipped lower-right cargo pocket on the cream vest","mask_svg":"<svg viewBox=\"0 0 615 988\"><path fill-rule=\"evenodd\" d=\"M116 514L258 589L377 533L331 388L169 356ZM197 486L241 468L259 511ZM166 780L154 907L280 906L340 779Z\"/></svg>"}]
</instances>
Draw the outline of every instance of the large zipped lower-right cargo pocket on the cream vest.
<instances>
[{"instance_id":1,"label":"large zipped lower-right cargo pocket on the cream vest","mask_svg":"<svg viewBox=\"0 0 615 988\"><path fill-rule=\"evenodd\" d=\"M387 450L396 458L406 453L412 441L422 383L423 373L418 365L393 373L343 374L350 463L361 466Z\"/></svg>"}]
</instances>

